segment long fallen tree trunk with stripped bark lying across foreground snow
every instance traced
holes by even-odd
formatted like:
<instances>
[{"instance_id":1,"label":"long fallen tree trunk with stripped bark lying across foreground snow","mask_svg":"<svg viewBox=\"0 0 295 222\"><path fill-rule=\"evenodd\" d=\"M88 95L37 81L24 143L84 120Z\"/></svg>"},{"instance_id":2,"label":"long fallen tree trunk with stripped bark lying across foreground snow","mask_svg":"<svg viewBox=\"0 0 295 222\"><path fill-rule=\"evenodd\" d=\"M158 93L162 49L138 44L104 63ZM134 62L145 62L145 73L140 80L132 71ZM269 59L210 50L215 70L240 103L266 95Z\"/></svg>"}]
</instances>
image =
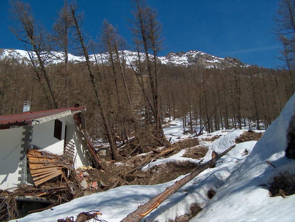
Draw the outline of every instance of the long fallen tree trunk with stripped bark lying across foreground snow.
<instances>
[{"instance_id":1,"label":"long fallen tree trunk with stripped bark lying across foreground snow","mask_svg":"<svg viewBox=\"0 0 295 222\"><path fill-rule=\"evenodd\" d=\"M140 205L135 211L128 214L127 217L125 217L121 222L139 222L142 218L148 215L155 208L158 208L160 203L162 203L164 200L170 197L173 193L176 193L176 191L179 188L181 188L183 185L185 185L186 183L194 179L201 172L209 168L213 163L215 163L218 159L220 159L220 157L227 154L234 147L235 145L228 148L221 154L217 155L215 158L212 158L210 161L208 161L204 165L201 165L196 170L191 172L189 175L186 175L185 177L183 177L181 180L176 181L173 185L166 188L162 193L159 193L153 199L149 200L147 203Z\"/></svg>"}]
</instances>

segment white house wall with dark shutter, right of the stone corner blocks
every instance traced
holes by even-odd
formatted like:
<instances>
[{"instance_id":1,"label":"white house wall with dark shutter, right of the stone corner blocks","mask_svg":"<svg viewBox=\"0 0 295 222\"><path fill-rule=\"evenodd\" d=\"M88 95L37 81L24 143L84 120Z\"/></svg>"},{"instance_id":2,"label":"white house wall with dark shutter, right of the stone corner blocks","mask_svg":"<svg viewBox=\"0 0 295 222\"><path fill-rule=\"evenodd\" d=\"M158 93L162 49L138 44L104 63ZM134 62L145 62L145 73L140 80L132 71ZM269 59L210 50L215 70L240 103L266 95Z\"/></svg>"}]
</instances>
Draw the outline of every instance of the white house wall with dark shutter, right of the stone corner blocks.
<instances>
[{"instance_id":1,"label":"white house wall with dark shutter, right of the stone corner blocks","mask_svg":"<svg viewBox=\"0 0 295 222\"><path fill-rule=\"evenodd\" d=\"M91 165L91 158L88 152L85 151L81 144L81 139L78 134L78 130L76 124L73 120L73 115L65 116L59 118L62 122L62 132L61 132L61 140L55 138L53 136L54 133L54 120L37 124L33 126L33 134L32 134L32 145L39 147L44 151L48 151L55 154L63 154L63 145L65 138L65 126L67 126L67 135L66 138L71 142L75 143L75 153L78 152L75 159L75 167L79 167L82 165L89 166Z\"/></svg>"}]
</instances>

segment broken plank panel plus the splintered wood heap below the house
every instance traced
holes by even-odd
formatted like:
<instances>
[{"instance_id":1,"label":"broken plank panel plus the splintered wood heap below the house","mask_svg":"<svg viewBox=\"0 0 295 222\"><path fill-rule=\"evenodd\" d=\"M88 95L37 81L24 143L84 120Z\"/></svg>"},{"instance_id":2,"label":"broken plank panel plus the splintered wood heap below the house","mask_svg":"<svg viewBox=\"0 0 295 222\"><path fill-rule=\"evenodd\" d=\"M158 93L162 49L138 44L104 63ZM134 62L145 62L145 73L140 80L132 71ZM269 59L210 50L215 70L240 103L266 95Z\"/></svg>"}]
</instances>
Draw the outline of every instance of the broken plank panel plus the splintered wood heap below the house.
<instances>
[{"instance_id":1,"label":"broken plank panel plus the splintered wood heap below the house","mask_svg":"<svg viewBox=\"0 0 295 222\"><path fill-rule=\"evenodd\" d=\"M73 166L73 157L69 154L57 155L29 149L27 159L34 185L22 185L12 192L0 190L0 221L21 217L18 208L24 201L19 200L48 203L46 208L28 211L33 213L83 196Z\"/></svg>"}]
</instances>

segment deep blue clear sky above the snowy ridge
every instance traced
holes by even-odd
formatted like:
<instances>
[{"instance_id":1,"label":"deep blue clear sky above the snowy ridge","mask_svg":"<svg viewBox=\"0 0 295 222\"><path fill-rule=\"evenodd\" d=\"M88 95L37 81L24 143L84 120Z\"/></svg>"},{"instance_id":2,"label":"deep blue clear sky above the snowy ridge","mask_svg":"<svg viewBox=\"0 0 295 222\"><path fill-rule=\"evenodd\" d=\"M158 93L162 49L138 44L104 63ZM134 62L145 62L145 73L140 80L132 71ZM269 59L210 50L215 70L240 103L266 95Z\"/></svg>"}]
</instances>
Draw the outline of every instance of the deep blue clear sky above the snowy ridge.
<instances>
[{"instance_id":1,"label":"deep blue clear sky above the snowy ridge","mask_svg":"<svg viewBox=\"0 0 295 222\"><path fill-rule=\"evenodd\" d=\"M219 57L237 57L242 62L276 68L281 62L280 43L271 33L275 27L278 2L275 0L147 0L158 10L158 19L163 25L165 47L160 55L168 52L199 50ZM27 0L35 19L47 29L53 24L56 11L62 7L62 0ZM119 32L132 46L132 35L128 29L132 18L128 0L78 0L84 11L83 30L92 38L100 35L100 27L106 18L119 28ZM9 31L9 3L0 1L0 48L24 49L23 45Z\"/></svg>"}]
</instances>

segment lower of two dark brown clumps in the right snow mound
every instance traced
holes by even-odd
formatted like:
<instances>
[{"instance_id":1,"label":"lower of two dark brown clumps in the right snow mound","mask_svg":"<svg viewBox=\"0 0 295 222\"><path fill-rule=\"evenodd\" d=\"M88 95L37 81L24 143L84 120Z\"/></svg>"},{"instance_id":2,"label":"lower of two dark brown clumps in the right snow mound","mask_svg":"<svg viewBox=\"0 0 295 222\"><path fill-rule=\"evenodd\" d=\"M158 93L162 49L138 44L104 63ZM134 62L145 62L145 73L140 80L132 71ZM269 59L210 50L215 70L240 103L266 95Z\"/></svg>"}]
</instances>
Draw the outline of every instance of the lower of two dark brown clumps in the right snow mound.
<instances>
[{"instance_id":1,"label":"lower of two dark brown clumps in the right snow mound","mask_svg":"<svg viewBox=\"0 0 295 222\"><path fill-rule=\"evenodd\" d=\"M289 196L295 193L295 175L289 172L280 173L273 178L273 182L269 188L269 195L271 197Z\"/></svg>"}]
</instances>

